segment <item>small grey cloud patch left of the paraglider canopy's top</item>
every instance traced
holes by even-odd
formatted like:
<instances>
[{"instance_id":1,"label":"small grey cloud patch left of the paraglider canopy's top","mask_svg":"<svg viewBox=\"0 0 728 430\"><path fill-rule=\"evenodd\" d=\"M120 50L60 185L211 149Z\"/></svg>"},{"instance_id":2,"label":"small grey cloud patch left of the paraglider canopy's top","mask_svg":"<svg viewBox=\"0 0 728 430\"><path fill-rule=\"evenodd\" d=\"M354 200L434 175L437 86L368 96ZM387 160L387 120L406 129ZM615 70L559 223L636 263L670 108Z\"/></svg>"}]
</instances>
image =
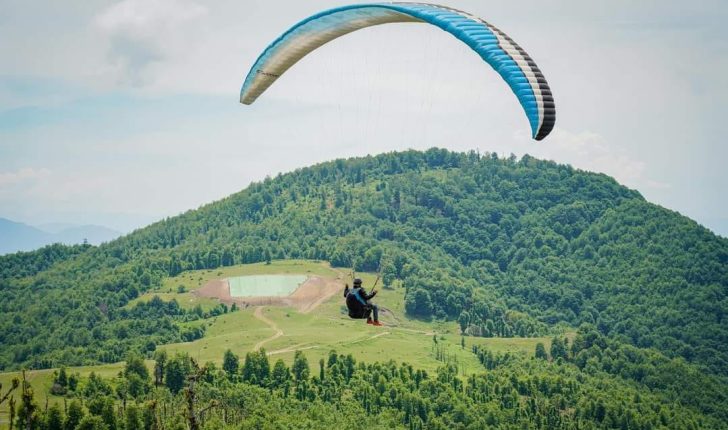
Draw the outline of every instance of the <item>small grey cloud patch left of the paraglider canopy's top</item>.
<instances>
[{"instance_id":1,"label":"small grey cloud patch left of the paraglider canopy's top","mask_svg":"<svg viewBox=\"0 0 728 430\"><path fill-rule=\"evenodd\" d=\"M150 66L185 49L189 24L206 13L189 0L123 0L101 12L95 24L108 38L119 80L142 86Z\"/></svg>"}]
</instances>

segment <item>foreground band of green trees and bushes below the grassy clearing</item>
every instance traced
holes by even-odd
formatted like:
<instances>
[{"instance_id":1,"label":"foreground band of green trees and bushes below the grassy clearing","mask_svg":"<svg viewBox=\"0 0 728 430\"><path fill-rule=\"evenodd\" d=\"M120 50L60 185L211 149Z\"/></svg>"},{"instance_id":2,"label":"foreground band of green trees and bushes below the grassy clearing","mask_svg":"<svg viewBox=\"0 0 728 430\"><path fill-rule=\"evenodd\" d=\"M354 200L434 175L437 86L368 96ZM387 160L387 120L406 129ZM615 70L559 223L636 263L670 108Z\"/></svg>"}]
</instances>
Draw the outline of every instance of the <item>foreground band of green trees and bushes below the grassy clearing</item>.
<instances>
[{"instance_id":1,"label":"foreground band of green trees and bushes below the grassy clearing","mask_svg":"<svg viewBox=\"0 0 728 430\"><path fill-rule=\"evenodd\" d=\"M265 350L242 360L226 351L222 366L159 352L151 371L131 356L111 379L79 382L61 369L53 389L69 398L63 405L41 408L23 383L11 420L19 429L728 428L675 392L578 364L604 341L584 330L571 348L556 338L529 357L474 346L482 368L467 377L450 363L428 373L336 351L318 362L299 351L290 366Z\"/></svg>"}]
</instances>

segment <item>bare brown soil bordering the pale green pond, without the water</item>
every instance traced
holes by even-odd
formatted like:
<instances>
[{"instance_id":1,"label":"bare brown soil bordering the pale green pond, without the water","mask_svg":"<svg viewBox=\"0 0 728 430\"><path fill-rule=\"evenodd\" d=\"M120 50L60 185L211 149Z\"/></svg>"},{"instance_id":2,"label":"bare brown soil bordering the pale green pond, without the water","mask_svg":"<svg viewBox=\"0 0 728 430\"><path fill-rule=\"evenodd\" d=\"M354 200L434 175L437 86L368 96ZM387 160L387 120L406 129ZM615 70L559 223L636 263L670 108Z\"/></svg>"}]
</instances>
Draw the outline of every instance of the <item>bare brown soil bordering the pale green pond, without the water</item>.
<instances>
[{"instance_id":1,"label":"bare brown soil bordering the pale green pond, without the water","mask_svg":"<svg viewBox=\"0 0 728 430\"><path fill-rule=\"evenodd\" d=\"M284 297L257 296L232 297L230 286L225 279L209 281L201 288L193 291L200 297L218 299L221 303L232 305L236 303L241 308L248 306L290 306L299 312L309 313L334 294L341 293L344 284L340 279L309 276L293 293Z\"/></svg>"}]
</instances>

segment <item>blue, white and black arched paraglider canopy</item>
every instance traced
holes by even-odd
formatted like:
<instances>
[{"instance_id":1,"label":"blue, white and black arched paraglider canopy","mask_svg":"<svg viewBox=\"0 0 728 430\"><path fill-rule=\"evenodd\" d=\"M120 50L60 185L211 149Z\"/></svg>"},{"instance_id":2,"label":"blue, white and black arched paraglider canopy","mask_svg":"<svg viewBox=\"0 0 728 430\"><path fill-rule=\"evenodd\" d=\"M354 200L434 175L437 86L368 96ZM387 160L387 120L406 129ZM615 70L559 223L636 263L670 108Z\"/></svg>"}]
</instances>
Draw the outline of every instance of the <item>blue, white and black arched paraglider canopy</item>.
<instances>
[{"instance_id":1,"label":"blue, white and black arched paraglider canopy","mask_svg":"<svg viewBox=\"0 0 728 430\"><path fill-rule=\"evenodd\" d=\"M536 140L556 121L554 98L536 63L508 35L484 20L446 6L426 3L371 3L343 6L313 15L291 27L258 57L245 78L240 102L253 103L298 60L316 48L362 28L395 22L432 24L452 34L490 64L523 106Z\"/></svg>"}]
</instances>

